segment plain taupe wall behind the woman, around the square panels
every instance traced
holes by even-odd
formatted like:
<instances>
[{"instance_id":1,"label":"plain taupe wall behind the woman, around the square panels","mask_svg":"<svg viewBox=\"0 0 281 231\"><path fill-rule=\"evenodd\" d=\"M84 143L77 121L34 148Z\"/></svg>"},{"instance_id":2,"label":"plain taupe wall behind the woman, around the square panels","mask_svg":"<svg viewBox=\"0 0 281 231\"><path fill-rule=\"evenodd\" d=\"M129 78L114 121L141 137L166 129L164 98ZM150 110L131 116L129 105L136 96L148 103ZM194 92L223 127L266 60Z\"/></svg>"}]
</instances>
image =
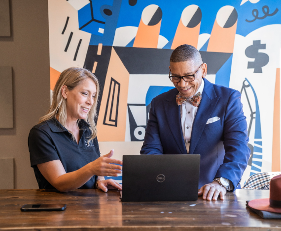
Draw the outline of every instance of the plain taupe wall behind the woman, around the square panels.
<instances>
[{"instance_id":1,"label":"plain taupe wall behind the woman, around the square panels","mask_svg":"<svg viewBox=\"0 0 281 231\"><path fill-rule=\"evenodd\" d=\"M48 1L10 0L10 12L11 37L0 37L0 66L13 68L14 128L0 129L0 158L15 158L15 189L36 189L27 141L50 105Z\"/></svg>"}]
</instances>

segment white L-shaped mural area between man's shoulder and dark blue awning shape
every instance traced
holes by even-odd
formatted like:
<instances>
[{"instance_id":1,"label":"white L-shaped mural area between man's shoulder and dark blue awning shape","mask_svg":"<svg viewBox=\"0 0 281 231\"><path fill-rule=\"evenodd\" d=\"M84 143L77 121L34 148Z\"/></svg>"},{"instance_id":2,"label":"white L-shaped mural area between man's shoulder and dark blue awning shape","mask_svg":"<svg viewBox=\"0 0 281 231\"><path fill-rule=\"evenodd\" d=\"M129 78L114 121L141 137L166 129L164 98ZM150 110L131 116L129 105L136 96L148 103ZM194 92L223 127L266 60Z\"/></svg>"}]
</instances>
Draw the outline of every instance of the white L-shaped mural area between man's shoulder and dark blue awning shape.
<instances>
[{"instance_id":1,"label":"white L-shaped mural area between man's shoulder and dark blue awning shape","mask_svg":"<svg viewBox=\"0 0 281 231\"><path fill-rule=\"evenodd\" d=\"M145 104L145 96L150 86L174 87L167 75L130 75L128 89L128 104Z\"/></svg>"}]
</instances>

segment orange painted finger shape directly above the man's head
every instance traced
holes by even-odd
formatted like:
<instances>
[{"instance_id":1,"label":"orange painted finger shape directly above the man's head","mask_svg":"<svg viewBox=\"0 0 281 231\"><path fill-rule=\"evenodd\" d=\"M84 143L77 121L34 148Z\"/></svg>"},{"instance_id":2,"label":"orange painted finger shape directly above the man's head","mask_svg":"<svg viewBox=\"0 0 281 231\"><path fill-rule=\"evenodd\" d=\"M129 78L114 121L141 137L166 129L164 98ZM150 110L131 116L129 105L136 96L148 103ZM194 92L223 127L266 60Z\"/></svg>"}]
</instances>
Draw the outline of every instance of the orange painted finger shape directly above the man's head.
<instances>
[{"instance_id":1,"label":"orange painted finger shape directly above the man's head","mask_svg":"<svg viewBox=\"0 0 281 231\"><path fill-rule=\"evenodd\" d=\"M182 24L181 19L177 25L176 34L171 49L188 44L197 48L201 22L194 28L187 28Z\"/></svg>"}]
</instances>

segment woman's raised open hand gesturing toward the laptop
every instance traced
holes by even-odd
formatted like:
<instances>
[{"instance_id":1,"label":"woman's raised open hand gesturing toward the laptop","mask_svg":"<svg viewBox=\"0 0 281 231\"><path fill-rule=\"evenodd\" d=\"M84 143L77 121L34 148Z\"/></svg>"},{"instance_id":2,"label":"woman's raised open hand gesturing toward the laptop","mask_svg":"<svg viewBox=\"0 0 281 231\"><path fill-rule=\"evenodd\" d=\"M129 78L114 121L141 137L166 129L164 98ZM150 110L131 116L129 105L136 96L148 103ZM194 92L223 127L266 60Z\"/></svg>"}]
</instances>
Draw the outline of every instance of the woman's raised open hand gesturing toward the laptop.
<instances>
[{"instance_id":1,"label":"woman's raised open hand gesturing toward the laptop","mask_svg":"<svg viewBox=\"0 0 281 231\"><path fill-rule=\"evenodd\" d=\"M91 170L94 175L117 176L117 173L122 173L122 166L120 166L122 165L122 161L110 158L113 152L114 150L111 149L106 155L91 162Z\"/></svg>"}]
</instances>

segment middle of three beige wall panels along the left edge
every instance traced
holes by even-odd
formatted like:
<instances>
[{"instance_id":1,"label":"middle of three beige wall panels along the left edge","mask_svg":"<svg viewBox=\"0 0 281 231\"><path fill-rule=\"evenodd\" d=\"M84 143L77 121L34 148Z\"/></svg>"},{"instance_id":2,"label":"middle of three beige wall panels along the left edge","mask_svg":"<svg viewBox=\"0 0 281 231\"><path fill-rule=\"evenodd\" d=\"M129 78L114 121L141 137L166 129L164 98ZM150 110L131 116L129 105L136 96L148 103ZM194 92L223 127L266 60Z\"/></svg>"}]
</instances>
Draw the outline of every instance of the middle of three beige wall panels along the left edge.
<instances>
[{"instance_id":1,"label":"middle of three beige wall panels along the left edge","mask_svg":"<svg viewBox=\"0 0 281 231\"><path fill-rule=\"evenodd\" d=\"M12 67L0 66L0 128L13 128Z\"/></svg>"}]
</instances>

